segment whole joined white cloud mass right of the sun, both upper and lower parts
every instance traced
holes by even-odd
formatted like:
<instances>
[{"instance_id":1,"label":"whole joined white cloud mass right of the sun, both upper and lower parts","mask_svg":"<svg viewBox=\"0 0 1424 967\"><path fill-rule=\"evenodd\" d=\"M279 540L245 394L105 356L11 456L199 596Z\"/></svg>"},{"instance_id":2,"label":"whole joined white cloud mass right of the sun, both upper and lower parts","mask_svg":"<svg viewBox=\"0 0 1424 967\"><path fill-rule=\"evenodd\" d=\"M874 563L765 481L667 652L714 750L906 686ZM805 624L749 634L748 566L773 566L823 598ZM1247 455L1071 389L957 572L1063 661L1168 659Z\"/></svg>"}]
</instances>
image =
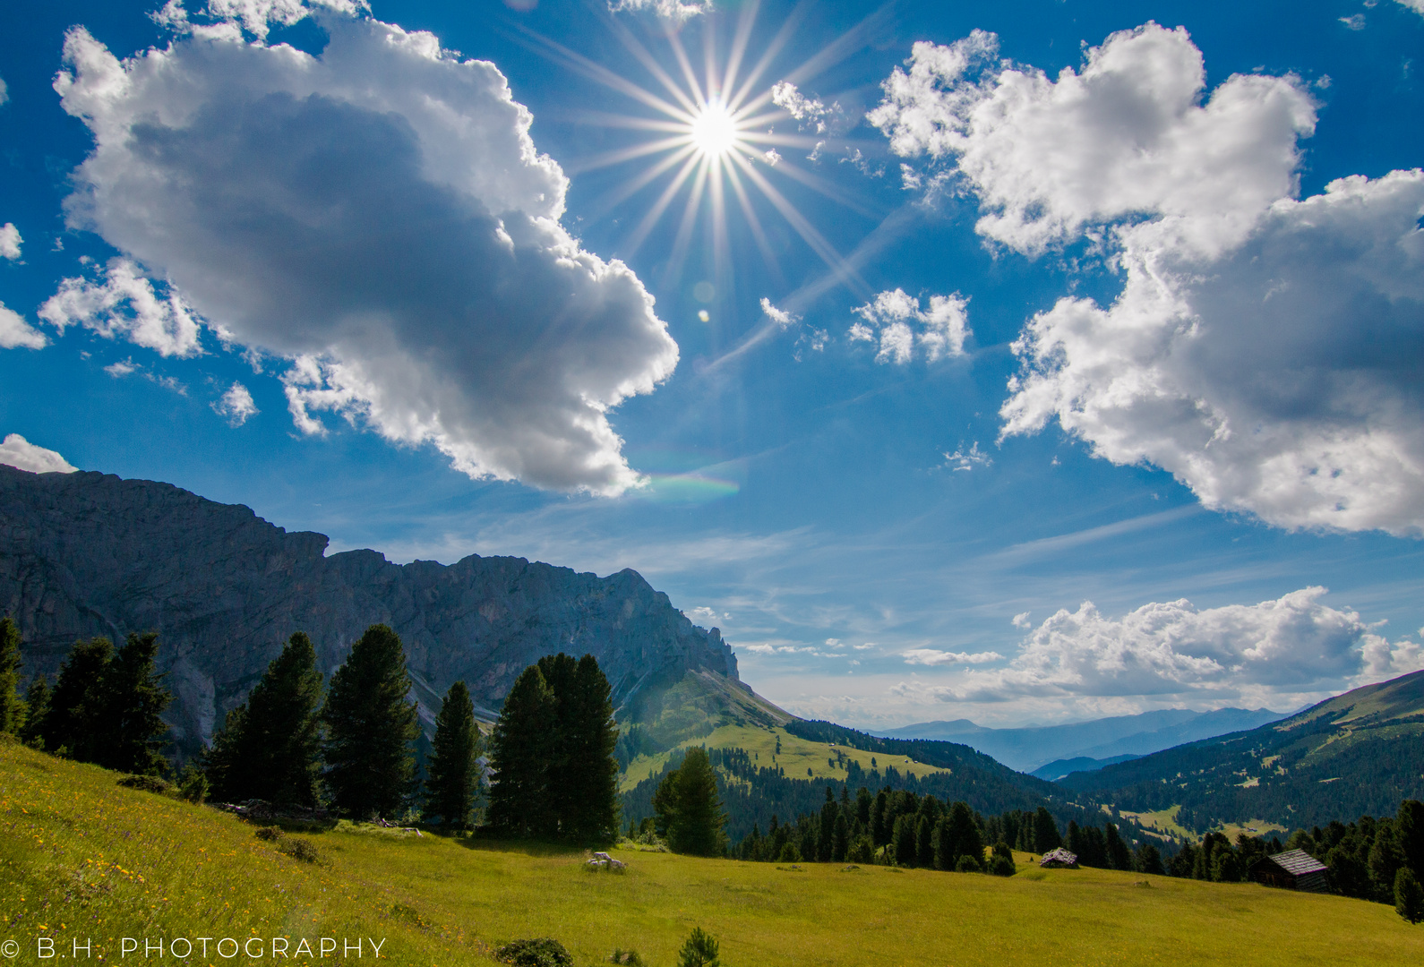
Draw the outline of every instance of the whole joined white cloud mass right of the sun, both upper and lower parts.
<instances>
[{"instance_id":1,"label":"whole joined white cloud mass right of the sun, both upper and lower parts","mask_svg":"<svg viewBox=\"0 0 1424 967\"><path fill-rule=\"evenodd\" d=\"M1424 182L1296 201L1314 105L1294 77L1206 97L1185 30L1146 24L1057 80L995 38L916 44L871 120L978 195L978 231L1042 252L1096 238L1125 275L1014 345L1004 433L1057 417L1094 453L1173 473L1283 527L1424 533Z\"/></svg>"}]
</instances>

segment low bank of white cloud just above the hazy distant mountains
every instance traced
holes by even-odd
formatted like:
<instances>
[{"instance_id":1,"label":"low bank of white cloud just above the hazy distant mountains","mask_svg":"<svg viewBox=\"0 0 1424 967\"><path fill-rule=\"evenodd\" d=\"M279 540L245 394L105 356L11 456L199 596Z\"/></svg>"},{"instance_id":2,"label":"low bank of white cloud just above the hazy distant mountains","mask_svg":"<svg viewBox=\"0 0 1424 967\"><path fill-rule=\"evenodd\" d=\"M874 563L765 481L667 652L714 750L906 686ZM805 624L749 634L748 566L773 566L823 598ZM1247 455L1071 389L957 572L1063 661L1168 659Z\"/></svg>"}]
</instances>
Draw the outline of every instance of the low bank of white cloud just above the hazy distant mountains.
<instances>
[{"instance_id":1,"label":"low bank of white cloud just above the hazy distant mountains","mask_svg":"<svg viewBox=\"0 0 1424 967\"><path fill-rule=\"evenodd\" d=\"M1146 604L1122 618L1085 601L1035 628L1007 667L968 671L931 691L944 701L968 702L1210 701L1330 691L1424 667L1418 644L1391 644L1357 612L1323 604L1324 594L1303 588L1274 601L1206 610L1180 600ZM906 661L926 664L918 655L907 652Z\"/></svg>"}]
</instances>

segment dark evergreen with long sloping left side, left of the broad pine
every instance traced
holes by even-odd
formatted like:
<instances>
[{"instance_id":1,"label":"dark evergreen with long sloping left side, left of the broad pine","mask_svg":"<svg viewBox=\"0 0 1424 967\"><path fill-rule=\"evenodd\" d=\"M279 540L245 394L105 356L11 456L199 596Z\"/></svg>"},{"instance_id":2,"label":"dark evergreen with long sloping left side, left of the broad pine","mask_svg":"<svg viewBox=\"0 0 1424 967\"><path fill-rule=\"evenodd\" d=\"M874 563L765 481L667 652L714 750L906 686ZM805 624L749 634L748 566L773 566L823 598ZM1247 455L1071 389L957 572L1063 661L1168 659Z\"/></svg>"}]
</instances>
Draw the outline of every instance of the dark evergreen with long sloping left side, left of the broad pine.
<instances>
[{"instance_id":1,"label":"dark evergreen with long sloping left side, left of the broad pine","mask_svg":"<svg viewBox=\"0 0 1424 967\"><path fill-rule=\"evenodd\" d=\"M318 802L322 674L316 649L298 631L272 659L248 701L228 712L205 759L211 796L265 799L276 806Z\"/></svg>"}]
</instances>

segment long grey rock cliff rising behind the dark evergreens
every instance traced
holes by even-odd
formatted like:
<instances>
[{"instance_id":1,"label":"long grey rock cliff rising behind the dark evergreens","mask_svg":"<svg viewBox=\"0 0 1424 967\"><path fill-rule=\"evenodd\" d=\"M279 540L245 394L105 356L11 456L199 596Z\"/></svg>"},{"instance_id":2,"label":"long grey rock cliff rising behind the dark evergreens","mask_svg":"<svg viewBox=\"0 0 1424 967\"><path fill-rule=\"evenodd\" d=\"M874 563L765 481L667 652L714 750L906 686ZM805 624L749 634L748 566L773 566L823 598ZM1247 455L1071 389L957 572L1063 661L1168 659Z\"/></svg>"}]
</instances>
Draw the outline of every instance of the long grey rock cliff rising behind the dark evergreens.
<instances>
[{"instance_id":1,"label":"long grey rock cliff rising behind the dark evergreens","mask_svg":"<svg viewBox=\"0 0 1424 967\"><path fill-rule=\"evenodd\" d=\"M26 675L53 678L77 638L158 631L191 749L256 684L293 631L326 675L367 625L402 637L427 728L463 678L493 715L541 655L591 652L621 721L689 671L738 681L736 657L631 570L600 578L518 557L449 567L376 551L326 557L328 538L286 533L248 507L171 484L0 466L0 614L20 624Z\"/></svg>"}]
</instances>

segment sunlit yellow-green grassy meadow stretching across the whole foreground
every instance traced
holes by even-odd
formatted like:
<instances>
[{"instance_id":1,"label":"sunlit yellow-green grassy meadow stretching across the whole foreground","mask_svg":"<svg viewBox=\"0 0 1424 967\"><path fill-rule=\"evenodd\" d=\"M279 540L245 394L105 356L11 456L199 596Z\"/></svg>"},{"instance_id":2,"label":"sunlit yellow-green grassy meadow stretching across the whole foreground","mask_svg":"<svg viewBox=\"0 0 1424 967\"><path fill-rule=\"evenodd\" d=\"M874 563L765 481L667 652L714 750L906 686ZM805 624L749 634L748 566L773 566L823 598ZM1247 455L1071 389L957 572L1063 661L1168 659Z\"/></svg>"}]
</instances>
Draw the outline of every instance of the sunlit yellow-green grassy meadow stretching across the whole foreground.
<instances>
[{"instance_id":1,"label":"sunlit yellow-green grassy meadow stretching across the whole foreground","mask_svg":"<svg viewBox=\"0 0 1424 967\"><path fill-rule=\"evenodd\" d=\"M785 749L783 739L783 749ZM289 833L290 859L253 826L206 806L120 788L120 776L0 742L0 947L36 939L383 939L396 964L488 964L494 947L551 936L577 963L617 946L675 963L693 926L726 967L753 964L1108 966L1417 964L1424 926L1387 906L1105 870L981 874L703 860L618 850L624 874L582 854L342 825ZM0 951L3 953L3 951ZM337 948L286 964L370 960ZM141 951L122 960L138 960ZM81 954L83 960L83 954ZM157 961L157 957L148 963ZM224 964L191 957L164 963ZM272 957L263 963L272 961Z\"/></svg>"}]
</instances>

